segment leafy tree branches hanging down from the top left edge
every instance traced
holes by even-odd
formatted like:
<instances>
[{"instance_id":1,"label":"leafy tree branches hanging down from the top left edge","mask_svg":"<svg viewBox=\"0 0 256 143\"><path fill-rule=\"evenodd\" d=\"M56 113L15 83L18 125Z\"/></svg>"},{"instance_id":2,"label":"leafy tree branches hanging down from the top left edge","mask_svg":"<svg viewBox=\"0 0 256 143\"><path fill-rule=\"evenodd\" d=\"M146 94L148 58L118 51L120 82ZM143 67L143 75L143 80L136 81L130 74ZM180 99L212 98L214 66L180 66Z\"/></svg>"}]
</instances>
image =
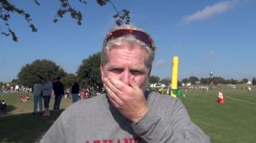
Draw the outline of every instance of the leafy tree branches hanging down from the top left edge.
<instances>
[{"instance_id":1,"label":"leafy tree branches hanging down from the top left edge","mask_svg":"<svg viewBox=\"0 0 256 143\"><path fill-rule=\"evenodd\" d=\"M86 0L78 0L81 4L86 4ZM40 6L38 0L34 0L35 4L37 6ZM55 17L53 18L53 23L58 22L58 18L63 18L64 15L69 14L72 19L77 20L78 26L82 24L83 15L82 13L72 7L72 5L69 3L69 0L59 0L60 2L60 8L57 10ZM15 6L13 4L14 2L11 0L0 0L0 21L2 20L3 23L0 25L0 31L1 34L5 36L12 36L12 40L15 42L18 42L18 37L15 34L15 31L12 30L9 24L10 20L10 14L16 14L22 16L26 22L29 24L29 27L33 32L37 32L36 26L34 26L34 23L31 22L31 15L26 12L23 9L20 9L19 7ZM120 26L121 24L129 24L130 17L129 17L129 10L122 9L121 12L116 9L115 4L113 4L110 0L97 0L97 4L100 6L105 6L107 4L111 4L113 6L113 9L115 9L116 14L113 15L113 18L116 21L116 24ZM4 30L2 27L6 27L7 30Z\"/></svg>"}]
</instances>

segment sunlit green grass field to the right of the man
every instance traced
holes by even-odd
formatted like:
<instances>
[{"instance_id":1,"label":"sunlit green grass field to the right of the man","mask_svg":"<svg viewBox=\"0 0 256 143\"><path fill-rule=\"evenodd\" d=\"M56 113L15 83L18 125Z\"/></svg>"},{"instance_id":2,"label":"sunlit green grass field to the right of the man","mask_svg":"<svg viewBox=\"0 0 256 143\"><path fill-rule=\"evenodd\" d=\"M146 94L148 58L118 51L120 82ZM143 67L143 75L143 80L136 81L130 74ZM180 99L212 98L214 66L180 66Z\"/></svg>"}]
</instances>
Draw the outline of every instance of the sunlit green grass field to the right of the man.
<instances>
[{"instance_id":1,"label":"sunlit green grass field to the right of the man","mask_svg":"<svg viewBox=\"0 0 256 143\"><path fill-rule=\"evenodd\" d=\"M255 142L256 141L256 94L246 90L224 88L223 95L250 101L236 101L225 97L225 104L217 102L219 89L188 90L183 101L190 117L211 137L211 142Z\"/></svg>"}]
</instances>

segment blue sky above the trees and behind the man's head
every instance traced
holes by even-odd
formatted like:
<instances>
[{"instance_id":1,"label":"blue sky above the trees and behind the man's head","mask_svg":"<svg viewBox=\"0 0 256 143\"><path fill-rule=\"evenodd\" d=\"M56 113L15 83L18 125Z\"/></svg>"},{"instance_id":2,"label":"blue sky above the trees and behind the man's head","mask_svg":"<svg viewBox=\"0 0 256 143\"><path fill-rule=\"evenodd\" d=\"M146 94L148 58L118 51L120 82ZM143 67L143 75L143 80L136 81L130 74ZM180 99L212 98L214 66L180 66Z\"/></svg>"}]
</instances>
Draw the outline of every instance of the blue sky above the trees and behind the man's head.
<instances>
[{"instance_id":1,"label":"blue sky above the trees and behind the man's head","mask_svg":"<svg viewBox=\"0 0 256 143\"><path fill-rule=\"evenodd\" d=\"M75 73L84 58L101 50L102 39L115 26L113 7L72 1L83 13L82 26L69 15L53 23L59 1L13 1L31 14L37 33L23 18L12 15L10 26L18 42L0 36L0 81L10 82L35 59L56 62ZM151 75L170 77L172 57L179 56L179 80L214 76L252 80L256 77L256 1L254 0L113 0L117 9L129 9L131 23L144 28L157 45Z\"/></svg>"}]
</instances>

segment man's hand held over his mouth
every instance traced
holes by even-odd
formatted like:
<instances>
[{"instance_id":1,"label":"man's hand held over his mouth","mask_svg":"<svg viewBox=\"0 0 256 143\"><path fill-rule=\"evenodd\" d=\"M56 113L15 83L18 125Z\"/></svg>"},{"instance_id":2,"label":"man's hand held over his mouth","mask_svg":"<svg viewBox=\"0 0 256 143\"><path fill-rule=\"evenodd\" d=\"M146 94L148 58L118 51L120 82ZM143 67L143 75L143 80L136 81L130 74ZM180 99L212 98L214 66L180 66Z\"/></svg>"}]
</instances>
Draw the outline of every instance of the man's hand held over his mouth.
<instances>
[{"instance_id":1,"label":"man's hand held over his mouth","mask_svg":"<svg viewBox=\"0 0 256 143\"><path fill-rule=\"evenodd\" d=\"M137 123L148 112L148 105L143 90L134 78L129 78L129 85L113 77L106 77L104 87L110 98L110 103L116 107L124 117Z\"/></svg>"}]
</instances>

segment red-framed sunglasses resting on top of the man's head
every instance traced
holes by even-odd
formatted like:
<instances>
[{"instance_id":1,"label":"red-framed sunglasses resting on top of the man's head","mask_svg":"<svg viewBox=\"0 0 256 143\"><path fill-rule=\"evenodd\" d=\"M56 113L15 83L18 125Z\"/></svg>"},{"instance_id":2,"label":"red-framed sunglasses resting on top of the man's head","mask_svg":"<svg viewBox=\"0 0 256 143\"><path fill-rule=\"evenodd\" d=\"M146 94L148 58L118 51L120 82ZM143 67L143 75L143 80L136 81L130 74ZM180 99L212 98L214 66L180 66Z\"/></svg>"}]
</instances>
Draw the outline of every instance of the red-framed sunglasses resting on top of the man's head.
<instances>
[{"instance_id":1,"label":"red-framed sunglasses resting on top of the man's head","mask_svg":"<svg viewBox=\"0 0 256 143\"><path fill-rule=\"evenodd\" d=\"M132 34L133 36L135 36L136 39L140 40L141 42L144 42L149 47L152 47L152 40L150 36L148 36L148 34L146 34L143 31L130 30L130 29L118 29L116 31L110 32L106 42L108 42L108 40L110 39L116 39L128 34Z\"/></svg>"}]
</instances>

